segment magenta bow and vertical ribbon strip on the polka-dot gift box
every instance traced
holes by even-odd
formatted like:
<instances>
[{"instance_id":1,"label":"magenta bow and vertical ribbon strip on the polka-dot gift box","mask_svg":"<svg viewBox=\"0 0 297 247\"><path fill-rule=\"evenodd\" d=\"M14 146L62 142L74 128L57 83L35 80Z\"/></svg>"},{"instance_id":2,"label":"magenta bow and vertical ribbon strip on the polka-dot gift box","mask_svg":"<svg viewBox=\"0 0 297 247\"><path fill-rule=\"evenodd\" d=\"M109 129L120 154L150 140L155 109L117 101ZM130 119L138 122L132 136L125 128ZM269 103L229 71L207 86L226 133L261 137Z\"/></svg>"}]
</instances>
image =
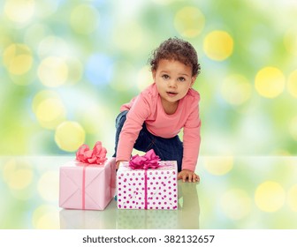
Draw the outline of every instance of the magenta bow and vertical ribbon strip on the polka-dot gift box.
<instances>
[{"instance_id":1,"label":"magenta bow and vertical ribbon strip on the polka-dot gift box","mask_svg":"<svg viewBox=\"0 0 297 247\"><path fill-rule=\"evenodd\" d=\"M138 154L134 155L129 161L129 167L133 169L144 169L144 209L148 209L148 168L156 169L159 167L159 162L161 159L150 149L148 153L143 156Z\"/></svg>"}]
</instances>

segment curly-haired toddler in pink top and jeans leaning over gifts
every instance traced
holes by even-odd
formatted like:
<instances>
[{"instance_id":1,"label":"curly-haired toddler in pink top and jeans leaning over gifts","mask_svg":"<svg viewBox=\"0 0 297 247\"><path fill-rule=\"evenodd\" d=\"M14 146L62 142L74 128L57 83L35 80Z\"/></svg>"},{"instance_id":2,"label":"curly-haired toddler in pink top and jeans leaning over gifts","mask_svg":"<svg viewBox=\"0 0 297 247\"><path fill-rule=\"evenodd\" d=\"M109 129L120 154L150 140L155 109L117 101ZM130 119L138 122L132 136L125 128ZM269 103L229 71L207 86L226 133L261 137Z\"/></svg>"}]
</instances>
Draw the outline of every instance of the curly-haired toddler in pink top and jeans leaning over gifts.
<instances>
[{"instance_id":1,"label":"curly-haired toddler in pink top and jeans leaning over gifts","mask_svg":"<svg viewBox=\"0 0 297 247\"><path fill-rule=\"evenodd\" d=\"M130 160L133 148L153 149L162 161L178 162L183 182L198 182L194 170L201 142L200 94L192 88L201 70L197 53L189 42L171 38L148 61L154 82L122 105L116 119L117 167Z\"/></svg>"}]
</instances>

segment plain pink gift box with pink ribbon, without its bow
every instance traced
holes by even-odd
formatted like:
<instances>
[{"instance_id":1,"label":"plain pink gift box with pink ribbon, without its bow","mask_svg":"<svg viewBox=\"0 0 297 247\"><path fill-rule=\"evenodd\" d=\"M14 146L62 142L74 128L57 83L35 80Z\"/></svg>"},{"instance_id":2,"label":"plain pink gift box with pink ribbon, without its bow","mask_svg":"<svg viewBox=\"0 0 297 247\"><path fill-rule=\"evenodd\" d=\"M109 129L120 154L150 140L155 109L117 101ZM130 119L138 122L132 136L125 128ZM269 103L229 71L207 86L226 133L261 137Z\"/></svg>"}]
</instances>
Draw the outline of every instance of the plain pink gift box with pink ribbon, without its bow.
<instances>
[{"instance_id":1,"label":"plain pink gift box with pink ribbon, without its bow","mask_svg":"<svg viewBox=\"0 0 297 247\"><path fill-rule=\"evenodd\" d=\"M115 191L115 158L109 158L100 165L70 161L60 168L60 207L103 210L114 197Z\"/></svg>"}]
</instances>

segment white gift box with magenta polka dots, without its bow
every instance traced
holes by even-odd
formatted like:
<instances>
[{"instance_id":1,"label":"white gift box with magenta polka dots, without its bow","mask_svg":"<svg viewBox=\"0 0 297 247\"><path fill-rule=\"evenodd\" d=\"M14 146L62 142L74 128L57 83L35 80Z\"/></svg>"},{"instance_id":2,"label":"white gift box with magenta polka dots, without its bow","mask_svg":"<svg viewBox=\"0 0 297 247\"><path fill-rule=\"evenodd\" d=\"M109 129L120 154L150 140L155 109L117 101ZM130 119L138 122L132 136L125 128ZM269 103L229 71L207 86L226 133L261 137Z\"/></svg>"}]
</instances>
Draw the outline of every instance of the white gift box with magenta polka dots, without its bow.
<instances>
[{"instance_id":1,"label":"white gift box with magenta polka dots, without its bow","mask_svg":"<svg viewBox=\"0 0 297 247\"><path fill-rule=\"evenodd\" d=\"M117 172L118 209L178 209L176 161L159 161L158 168L133 169L121 162Z\"/></svg>"}]
</instances>

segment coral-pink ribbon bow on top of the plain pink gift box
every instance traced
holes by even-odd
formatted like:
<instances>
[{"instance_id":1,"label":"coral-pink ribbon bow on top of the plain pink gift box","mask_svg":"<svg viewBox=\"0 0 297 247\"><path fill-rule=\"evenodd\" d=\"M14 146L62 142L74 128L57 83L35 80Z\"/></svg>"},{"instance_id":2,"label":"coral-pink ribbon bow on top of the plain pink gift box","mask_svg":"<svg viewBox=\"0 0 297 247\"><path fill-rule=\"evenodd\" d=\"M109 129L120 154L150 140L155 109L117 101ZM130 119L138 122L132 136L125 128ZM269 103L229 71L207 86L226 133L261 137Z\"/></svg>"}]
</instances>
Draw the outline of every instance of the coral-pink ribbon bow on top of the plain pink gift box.
<instances>
[{"instance_id":1,"label":"coral-pink ribbon bow on top of the plain pink gift box","mask_svg":"<svg viewBox=\"0 0 297 247\"><path fill-rule=\"evenodd\" d=\"M106 148L102 146L101 141L95 143L93 150L90 150L88 145L83 144L76 153L76 160L88 164L102 165L107 160L106 153Z\"/></svg>"}]
</instances>

